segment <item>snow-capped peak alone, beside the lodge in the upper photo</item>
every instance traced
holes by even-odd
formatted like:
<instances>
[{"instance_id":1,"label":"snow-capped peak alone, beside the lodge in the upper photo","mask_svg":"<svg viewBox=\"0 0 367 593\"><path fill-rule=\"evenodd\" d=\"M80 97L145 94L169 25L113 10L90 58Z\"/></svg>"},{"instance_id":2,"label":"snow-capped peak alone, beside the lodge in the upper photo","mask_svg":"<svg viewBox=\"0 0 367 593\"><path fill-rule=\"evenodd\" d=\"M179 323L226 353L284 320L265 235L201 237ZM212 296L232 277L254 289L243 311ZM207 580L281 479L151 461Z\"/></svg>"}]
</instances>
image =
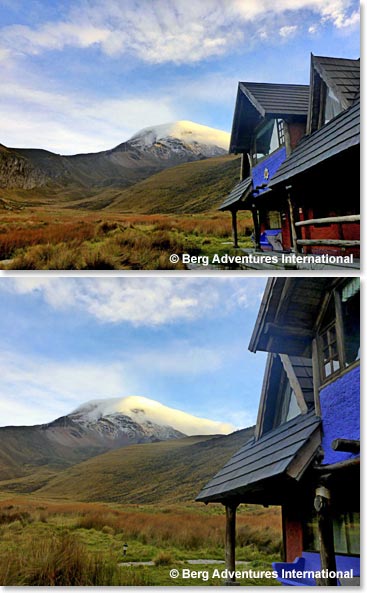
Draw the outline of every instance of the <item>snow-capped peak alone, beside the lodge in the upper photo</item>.
<instances>
[{"instance_id":1,"label":"snow-capped peak alone, beside the lodge in the upper photo","mask_svg":"<svg viewBox=\"0 0 367 593\"><path fill-rule=\"evenodd\" d=\"M134 134L128 143L161 158L170 153L208 158L226 154L229 138L228 132L182 120L144 128Z\"/></svg>"}]
</instances>

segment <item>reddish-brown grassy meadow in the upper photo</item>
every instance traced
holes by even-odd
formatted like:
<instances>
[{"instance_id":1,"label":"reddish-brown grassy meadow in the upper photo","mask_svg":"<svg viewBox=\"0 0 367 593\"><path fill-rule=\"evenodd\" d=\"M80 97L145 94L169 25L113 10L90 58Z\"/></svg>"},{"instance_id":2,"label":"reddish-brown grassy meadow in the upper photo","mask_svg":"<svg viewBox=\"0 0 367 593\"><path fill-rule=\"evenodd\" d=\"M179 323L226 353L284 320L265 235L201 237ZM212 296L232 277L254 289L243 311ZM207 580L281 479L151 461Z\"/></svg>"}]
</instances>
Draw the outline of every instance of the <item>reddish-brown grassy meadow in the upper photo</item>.
<instances>
[{"instance_id":1,"label":"reddish-brown grassy meadow in the upper photo","mask_svg":"<svg viewBox=\"0 0 367 593\"><path fill-rule=\"evenodd\" d=\"M252 222L239 216L240 246L250 247ZM231 217L198 214L118 214L24 208L5 210L0 221L0 269L185 269L169 256L234 253Z\"/></svg>"}]
</instances>

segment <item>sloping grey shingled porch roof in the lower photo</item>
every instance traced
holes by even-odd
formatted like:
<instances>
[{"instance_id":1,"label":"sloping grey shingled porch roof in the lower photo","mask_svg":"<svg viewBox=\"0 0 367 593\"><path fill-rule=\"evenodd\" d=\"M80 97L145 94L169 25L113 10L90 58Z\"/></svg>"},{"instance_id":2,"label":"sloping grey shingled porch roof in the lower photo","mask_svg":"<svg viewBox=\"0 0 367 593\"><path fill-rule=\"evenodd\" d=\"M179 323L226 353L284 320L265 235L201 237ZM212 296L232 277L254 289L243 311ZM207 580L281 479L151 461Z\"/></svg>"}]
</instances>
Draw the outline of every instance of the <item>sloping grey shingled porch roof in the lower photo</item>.
<instances>
[{"instance_id":1,"label":"sloping grey shingled porch roof in the lower photo","mask_svg":"<svg viewBox=\"0 0 367 593\"><path fill-rule=\"evenodd\" d=\"M261 486L269 488L269 478L281 476L290 479L287 470L299 456L301 449L309 443L311 437L319 430L321 420L314 411L293 418L278 428L270 431L257 441L251 439L226 463L226 465L203 488L197 497L201 502L220 502L229 498L246 499L246 494ZM298 473L298 480L308 467L320 438L315 439L314 447L308 451ZM271 491L270 491L271 496Z\"/></svg>"}]
</instances>

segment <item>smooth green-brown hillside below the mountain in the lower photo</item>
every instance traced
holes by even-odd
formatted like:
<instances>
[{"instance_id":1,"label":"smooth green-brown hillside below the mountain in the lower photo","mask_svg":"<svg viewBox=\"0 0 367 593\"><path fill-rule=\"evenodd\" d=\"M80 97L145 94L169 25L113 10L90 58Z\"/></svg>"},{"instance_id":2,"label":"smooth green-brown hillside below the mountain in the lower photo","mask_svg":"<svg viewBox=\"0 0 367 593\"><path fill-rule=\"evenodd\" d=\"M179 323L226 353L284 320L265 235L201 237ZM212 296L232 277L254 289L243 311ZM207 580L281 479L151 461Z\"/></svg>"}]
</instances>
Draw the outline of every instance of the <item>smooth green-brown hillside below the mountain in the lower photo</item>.
<instances>
[{"instance_id":1,"label":"smooth green-brown hillside below the mountain in the lower photo","mask_svg":"<svg viewBox=\"0 0 367 593\"><path fill-rule=\"evenodd\" d=\"M28 464L29 475L0 481L0 490L71 501L188 502L252 434L249 428L214 438L129 445L68 468L57 468L50 458L50 465ZM2 434L4 447L6 436ZM24 441L22 447L32 459L33 442L27 446ZM74 454L77 456L78 451Z\"/></svg>"}]
</instances>

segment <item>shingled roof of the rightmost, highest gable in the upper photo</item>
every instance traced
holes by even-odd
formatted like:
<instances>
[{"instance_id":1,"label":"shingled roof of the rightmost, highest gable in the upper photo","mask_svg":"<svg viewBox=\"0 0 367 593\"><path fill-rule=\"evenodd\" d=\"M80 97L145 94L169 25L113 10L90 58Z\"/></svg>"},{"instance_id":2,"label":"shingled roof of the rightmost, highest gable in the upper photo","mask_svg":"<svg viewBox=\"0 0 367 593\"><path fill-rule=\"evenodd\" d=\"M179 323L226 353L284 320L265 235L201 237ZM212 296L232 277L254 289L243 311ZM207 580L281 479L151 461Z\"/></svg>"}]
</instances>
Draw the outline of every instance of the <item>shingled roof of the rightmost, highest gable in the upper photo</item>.
<instances>
[{"instance_id":1,"label":"shingled roof of the rightmost, highest gable in the upper photo","mask_svg":"<svg viewBox=\"0 0 367 593\"><path fill-rule=\"evenodd\" d=\"M312 56L314 68L347 109L358 98L360 61Z\"/></svg>"}]
</instances>

